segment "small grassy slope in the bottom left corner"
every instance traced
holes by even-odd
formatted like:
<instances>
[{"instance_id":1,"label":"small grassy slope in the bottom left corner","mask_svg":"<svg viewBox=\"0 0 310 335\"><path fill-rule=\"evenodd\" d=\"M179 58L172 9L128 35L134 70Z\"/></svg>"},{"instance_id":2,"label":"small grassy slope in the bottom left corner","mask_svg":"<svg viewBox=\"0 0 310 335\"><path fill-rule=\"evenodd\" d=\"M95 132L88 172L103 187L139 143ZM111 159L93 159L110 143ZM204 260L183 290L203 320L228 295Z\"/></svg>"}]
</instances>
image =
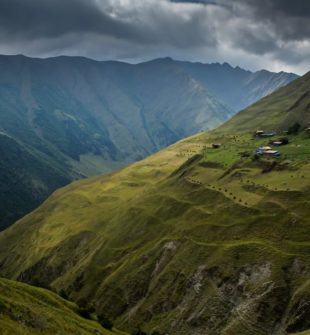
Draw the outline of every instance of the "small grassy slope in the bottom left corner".
<instances>
[{"instance_id":1,"label":"small grassy slope in the bottom left corner","mask_svg":"<svg viewBox=\"0 0 310 335\"><path fill-rule=\"evenodd\" d=\"M74 303L56 294L11 280L0 279L0 334L120 334L79 316Z\"/></svg>"}]
</instances>

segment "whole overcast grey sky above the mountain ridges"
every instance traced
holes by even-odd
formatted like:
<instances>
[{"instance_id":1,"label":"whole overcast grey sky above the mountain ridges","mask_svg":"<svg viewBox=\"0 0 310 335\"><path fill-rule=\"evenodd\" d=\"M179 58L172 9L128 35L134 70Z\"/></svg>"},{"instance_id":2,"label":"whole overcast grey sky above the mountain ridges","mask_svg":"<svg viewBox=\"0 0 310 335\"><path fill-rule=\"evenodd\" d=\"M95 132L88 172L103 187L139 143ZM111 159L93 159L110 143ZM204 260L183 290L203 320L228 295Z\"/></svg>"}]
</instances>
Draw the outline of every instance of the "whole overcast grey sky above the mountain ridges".
<instances>
[{"instance_id":1,"label":"whole overcast grey sky above the mountain ridges","mask_svg":"<svg viewBox=\"0 0 310 335\"><path fill-rule=\"evenodd\" d=\"M0 53L310 70L310 0L0 0Z\"/></svg>"}]
</instances>

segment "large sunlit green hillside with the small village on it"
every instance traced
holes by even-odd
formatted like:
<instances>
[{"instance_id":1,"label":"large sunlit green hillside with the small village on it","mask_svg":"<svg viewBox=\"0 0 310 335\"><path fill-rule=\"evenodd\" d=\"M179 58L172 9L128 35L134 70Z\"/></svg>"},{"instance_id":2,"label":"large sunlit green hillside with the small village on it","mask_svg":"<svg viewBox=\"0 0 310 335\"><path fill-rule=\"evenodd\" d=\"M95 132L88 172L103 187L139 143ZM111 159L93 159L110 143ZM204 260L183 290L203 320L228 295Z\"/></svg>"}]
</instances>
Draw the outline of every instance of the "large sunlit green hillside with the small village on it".
<instances>
[{"instance_id":1,"label":"large sunlit green hillside with the small village on it","mask_svg":"<svg viewBox=\"0 0 310 335\"><path fill-rule=\"evenodd\" d=\"M57 190L0 234L0 275L126 331L309 330L309 84L310 73L213 131ZM280 158L255 154L270 140L258 129L287 138Z\"/></svg>"}]
</instances>

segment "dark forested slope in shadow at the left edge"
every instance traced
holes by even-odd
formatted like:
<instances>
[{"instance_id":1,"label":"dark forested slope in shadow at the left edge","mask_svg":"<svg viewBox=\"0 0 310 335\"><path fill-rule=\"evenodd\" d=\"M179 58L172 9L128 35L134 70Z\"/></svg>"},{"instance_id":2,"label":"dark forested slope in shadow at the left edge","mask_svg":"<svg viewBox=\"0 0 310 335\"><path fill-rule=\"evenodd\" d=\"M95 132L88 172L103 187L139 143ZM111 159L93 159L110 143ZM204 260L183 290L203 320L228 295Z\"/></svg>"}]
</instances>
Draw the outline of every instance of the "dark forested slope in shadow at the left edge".
<instances>
[{"instance_id":1,"label":"dark forested slope in shadow at the left edge","mask_svg":"<svg viewBox=\"0 0 310 335\"><path fill-rule=\"evenodd\" d=\"M0 133L0 154L0 229L39 206L51 190L71 181L60 163L4 133Z\"/></svg>"}]
</instances>

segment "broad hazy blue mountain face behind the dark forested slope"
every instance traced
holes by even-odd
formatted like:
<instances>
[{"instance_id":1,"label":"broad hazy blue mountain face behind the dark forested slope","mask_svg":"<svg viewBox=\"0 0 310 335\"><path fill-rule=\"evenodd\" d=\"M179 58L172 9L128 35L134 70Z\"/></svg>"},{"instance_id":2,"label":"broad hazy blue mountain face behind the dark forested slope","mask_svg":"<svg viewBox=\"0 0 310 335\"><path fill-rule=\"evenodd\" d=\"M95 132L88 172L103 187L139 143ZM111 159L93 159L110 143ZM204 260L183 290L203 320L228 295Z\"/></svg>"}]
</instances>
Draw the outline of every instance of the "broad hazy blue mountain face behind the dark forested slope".
<instances>
[{"instance_id":1,"label":"broad hazy blue mountain face behind the dark forested slope","mask_svg":"<svg viewBox=\"0 0 310 335\"><path fill-rule=\"evenodd\" d=\"M3 130L69 162L130 162L232 114L174 62L2 56L0 70Z\"/></svg>"}]
</instances>

